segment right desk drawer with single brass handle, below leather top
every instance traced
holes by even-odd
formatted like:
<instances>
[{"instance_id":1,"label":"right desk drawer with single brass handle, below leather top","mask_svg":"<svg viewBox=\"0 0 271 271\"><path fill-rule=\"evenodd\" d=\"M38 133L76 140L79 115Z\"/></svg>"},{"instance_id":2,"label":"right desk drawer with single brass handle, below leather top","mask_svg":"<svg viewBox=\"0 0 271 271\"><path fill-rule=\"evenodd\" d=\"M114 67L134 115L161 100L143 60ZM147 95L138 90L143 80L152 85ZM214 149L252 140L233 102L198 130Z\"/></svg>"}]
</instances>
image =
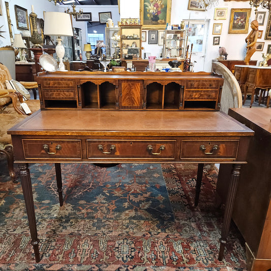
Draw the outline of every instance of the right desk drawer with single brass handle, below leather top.
<instances>
[{"instance_id":1,"label":"right desk drawer with single brass handle, below leather top","mask_svg":"<svg viewBox=\"0 0 271 271\"><path fill-rule=\"evenodd\" d=\"M238 145L239 140L183 140L180 159L236 159Z\"/></svg>"}]
</instances>

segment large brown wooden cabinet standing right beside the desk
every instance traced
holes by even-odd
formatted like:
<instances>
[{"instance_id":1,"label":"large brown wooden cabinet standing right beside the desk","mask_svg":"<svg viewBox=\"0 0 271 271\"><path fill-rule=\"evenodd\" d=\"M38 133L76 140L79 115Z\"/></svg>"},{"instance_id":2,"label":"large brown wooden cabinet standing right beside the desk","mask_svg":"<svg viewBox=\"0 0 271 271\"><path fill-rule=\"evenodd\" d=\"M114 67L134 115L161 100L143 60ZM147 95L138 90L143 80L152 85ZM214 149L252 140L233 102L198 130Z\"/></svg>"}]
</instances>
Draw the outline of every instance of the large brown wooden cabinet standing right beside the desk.
<instances>
[{"instance_id":1,"label":"large brown wooden cabinet standing right beside the desk","mask_svg":"<svg viewBox=\"0 0 271 271\"><path fill-rule=\"evenodd\" d=\"M229 115L255 132L242 168L234 202L233 220L246 241L248 270L271 268L271 110L233 108ZM225 202L230 167L221 164L217 198Z\"/></svg>"}]
</instances>

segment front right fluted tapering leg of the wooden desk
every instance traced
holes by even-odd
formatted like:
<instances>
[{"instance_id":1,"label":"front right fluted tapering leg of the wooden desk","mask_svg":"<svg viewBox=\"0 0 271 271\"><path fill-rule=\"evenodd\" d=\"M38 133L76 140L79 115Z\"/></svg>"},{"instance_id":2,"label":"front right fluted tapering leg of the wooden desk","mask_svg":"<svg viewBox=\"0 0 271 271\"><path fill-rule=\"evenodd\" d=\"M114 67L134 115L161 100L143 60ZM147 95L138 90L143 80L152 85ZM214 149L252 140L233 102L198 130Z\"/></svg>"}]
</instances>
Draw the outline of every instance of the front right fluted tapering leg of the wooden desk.
<instances>
[{"instance_id":1,"label":"front right fluted tapering leg of the wooden desk","mask_svg":"<svg viewBox=\"0 0 271 271\"><path fill-rule=\"evenodd\" d=\"M224 248L225 248L225 245L227 244L227 236L228 236L229 228L230 228L233 203L235 199L235 194L237 190L240 173L241 173L241 164L233 164L231 174L230 174L230 184L229 184L229 191L228 191L228 196L227 196L227 201L226 201L226 206L225 206L224 220L223 220L223 225L222 225L222 230L221 230L221 238L219 239L220 240L220 248L219 248L219 255L218 255L219 261L223 260Z\"/></svg>"}]
</instances>

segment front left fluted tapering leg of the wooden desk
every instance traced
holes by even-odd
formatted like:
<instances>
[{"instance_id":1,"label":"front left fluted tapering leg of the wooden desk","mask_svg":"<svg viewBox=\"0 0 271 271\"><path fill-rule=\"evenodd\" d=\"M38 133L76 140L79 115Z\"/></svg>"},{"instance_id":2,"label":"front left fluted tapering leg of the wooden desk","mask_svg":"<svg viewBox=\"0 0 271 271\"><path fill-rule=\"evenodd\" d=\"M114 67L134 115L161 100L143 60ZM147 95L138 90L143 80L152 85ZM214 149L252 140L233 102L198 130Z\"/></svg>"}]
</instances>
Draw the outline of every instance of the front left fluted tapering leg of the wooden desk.
<instances>
[{"instance_id":1,"label":"front left fluted tapering leg of the wooden desk","mask_svg":"<svg viewBox=\"0 0 271 271\"><path fill-rule=\"evenodd\" d=\"M35 208L33 201L31 178L27 164L19 164L22 192L24 196L24 202L26 207L26 213L28 218L29 230L31 235L31 245L33 246L36 262L40 261L40 251L35 217Z\"/></svg>"}]
</instances>

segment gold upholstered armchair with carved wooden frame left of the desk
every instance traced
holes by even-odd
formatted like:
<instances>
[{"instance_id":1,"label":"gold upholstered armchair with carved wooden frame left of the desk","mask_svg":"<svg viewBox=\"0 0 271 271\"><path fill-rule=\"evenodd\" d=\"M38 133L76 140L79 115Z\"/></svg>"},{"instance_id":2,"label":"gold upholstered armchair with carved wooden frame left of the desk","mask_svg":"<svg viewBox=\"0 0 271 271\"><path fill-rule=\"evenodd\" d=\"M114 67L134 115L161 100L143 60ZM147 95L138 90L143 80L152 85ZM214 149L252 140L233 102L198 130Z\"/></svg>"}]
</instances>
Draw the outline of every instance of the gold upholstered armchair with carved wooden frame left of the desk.
<instances>
[{"instance_id":1,"label":"gold upholstered armchair with carved wooden frame left of the desk","mask_svg":"<svg viewBox=\"0 0 271 271\"><path fill-rule=\"evenodd\" d=\"M20 89L7 89L7 80L11 80L9 70L6 66L0 64L0 155L6 156L11 179L14 183L17 183L13 167L13 146L11 136L7 134L7 130L27 117L27 114L20 108L22 102L26 103L32 112L35 112L40 109L40 101L23 101L23 97L30 98L27 89L23 89L22 86Z\"/></svg>"}]
</instances>

